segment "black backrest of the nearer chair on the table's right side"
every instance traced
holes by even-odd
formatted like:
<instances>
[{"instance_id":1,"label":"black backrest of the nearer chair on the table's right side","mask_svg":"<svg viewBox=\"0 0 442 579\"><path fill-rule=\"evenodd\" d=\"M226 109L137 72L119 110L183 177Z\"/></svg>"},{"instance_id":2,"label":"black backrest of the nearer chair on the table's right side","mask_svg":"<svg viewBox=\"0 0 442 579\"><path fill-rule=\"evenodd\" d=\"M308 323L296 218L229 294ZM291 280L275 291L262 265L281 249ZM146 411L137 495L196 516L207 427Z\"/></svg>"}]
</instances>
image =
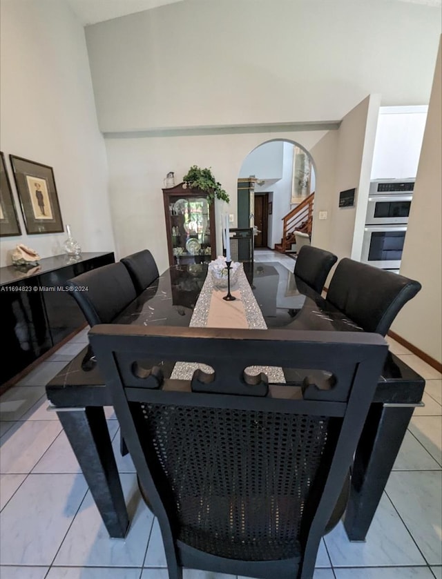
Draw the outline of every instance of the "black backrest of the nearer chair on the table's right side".
<instances>
[{"instance_id":1,"label":"black backrest of the nearer chair on the table's right side","mask_svg":"<svg viewBox=\"0 0 442 579\"><path fill-rule=\"evenodd\" d=\"M365 331L386 335L421 287L414 279L345 257L336 266L326 299Z\"/></svg>"}]
</instances>

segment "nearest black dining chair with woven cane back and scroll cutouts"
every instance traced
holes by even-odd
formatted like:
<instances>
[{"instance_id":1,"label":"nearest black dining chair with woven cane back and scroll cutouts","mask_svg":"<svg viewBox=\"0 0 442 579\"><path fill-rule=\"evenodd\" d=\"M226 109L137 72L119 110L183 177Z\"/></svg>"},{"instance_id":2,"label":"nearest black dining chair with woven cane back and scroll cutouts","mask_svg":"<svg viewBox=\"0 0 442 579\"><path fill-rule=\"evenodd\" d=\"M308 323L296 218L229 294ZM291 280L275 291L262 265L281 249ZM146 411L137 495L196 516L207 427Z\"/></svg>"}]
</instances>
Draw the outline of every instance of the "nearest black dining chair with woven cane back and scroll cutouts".
<instances>
[{"instance_id":1,"label":"nearest black dining chair with woven cane back and scroll cutouts","mask_svg":"<svg viewBox=\"0 0 442 579\"><path fill-rule=\"evenodd\" d=\"M160 523L169 579L182 568L311 579L387 353L370 333L98 325L90 331ZM177 378L140 360L180 362ZM189 363L207 364L213 373ZM184 364L184 368L182 367ZM272 385L248 366L327 369Z\"/></svg>"}]
</instances>

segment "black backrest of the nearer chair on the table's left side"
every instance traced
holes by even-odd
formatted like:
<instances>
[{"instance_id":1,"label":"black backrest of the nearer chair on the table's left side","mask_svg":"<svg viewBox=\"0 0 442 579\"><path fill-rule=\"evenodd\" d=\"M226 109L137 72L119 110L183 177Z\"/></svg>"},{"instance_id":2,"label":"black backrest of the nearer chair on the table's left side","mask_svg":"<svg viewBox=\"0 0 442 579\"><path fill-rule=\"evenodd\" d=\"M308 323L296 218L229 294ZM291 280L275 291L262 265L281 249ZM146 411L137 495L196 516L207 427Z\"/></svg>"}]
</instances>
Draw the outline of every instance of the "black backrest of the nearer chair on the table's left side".
<instances>
[{"instance_id":1,"label":"black backrest of the nearer chair on the table's left side","mask_svg":"<svg viewBox=\"0 0 442 579\"><path fill-rule=\"evenodd\" d=\"M113 322L137 297L131 276L121 263L81 273L67 285L91 327Z\"/></svg>"}]
</instances>

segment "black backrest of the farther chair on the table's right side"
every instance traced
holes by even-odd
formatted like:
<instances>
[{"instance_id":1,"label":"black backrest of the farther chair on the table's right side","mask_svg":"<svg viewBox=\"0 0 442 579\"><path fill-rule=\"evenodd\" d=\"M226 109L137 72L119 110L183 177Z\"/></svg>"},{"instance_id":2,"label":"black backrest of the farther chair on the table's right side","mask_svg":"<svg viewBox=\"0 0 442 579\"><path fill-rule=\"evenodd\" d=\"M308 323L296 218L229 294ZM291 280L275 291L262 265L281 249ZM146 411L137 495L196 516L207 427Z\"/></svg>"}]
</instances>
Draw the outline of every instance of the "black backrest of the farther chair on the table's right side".
<instances>
[{"instance_id":1,"label":"black backrest of the farther chair on the table's right side","mask_svg":"<svg viewBox=\"0 0 442 579\"><path fill-rule=\"evenodd\" d=\"M314 246L302 246L294 268L295 277L302 279L307 286L317 293L323 291L325 280L330 270L338 261L334 253Z\"/></svg>"}]
</instances>

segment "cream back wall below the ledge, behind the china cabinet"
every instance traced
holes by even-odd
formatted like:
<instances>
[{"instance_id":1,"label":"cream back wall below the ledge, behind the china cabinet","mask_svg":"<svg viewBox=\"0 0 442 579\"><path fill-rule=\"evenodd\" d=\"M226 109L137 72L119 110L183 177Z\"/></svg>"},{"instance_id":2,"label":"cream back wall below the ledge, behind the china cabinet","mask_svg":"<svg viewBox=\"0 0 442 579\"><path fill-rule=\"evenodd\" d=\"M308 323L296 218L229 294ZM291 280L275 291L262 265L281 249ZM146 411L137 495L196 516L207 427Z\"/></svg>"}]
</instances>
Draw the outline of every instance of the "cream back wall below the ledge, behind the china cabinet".
<instances>
[{"instance_id":1,"label":"cream back wall below the ledge, behind the china cabinet","mask_svg":"<svg viewBox=\"0 0 442 579\"><path fill-rule=\"evenodd\" d=\"M148 246L160 271L169 267L164 227L163 179L168 171L173 170L179 183L193 164L211 166L213 175L230 195L228 207L222 202L216 202L215 205L219 253L222 247L220 215L233 213L233 227L236 227L237 179L249 152L271 139L293 140L309 149L324 135L325 131L310 131L105 139L117 254L127 255ZM273 204L276 203L276 197L277 194L273 195Z\"/></svg>"}]
</instances>

